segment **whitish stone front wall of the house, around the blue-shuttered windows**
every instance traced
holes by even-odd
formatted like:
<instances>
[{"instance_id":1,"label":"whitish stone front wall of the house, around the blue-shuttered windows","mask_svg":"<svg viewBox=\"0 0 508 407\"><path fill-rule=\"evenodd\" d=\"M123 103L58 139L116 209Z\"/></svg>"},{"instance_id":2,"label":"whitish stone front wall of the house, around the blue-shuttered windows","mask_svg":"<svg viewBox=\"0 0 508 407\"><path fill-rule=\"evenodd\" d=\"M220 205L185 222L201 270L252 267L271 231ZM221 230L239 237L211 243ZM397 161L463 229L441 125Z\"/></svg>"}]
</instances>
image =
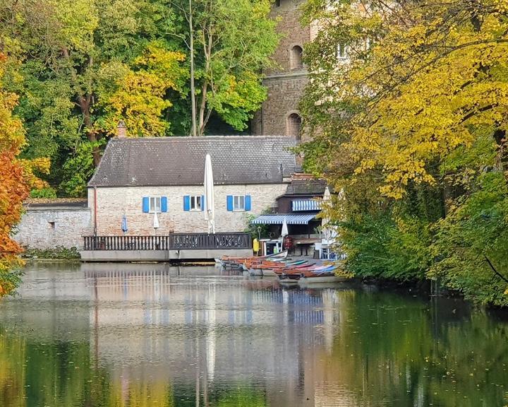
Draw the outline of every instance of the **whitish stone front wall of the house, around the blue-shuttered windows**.
<instances>
[{"instance_id":1,"label":"whitish stone front wall of the house, around the blue-shuttered windows","mask_svg":"<svg viewBox=\"0 0 508 407\"><path fill-rule=\"evenodd\" d=\"M248 214L259 214L275 205L277 196L286 191L287 184L216 185L215 225L217 232L245 230ZM143 196L167 196L167 213L158 213L157 235L167 233L207 232L205 213L183 211L184 195L202 195L200 186L189 187L117 187L97 188L97 235L122 235L121 219L125 213L126 235L155 235L153 213L143 213ZM250 195L252 210L230 212L226 210L227 195ZM94 219L94 189L88 189L88 206Z\"/></svg>"}]
</instances>

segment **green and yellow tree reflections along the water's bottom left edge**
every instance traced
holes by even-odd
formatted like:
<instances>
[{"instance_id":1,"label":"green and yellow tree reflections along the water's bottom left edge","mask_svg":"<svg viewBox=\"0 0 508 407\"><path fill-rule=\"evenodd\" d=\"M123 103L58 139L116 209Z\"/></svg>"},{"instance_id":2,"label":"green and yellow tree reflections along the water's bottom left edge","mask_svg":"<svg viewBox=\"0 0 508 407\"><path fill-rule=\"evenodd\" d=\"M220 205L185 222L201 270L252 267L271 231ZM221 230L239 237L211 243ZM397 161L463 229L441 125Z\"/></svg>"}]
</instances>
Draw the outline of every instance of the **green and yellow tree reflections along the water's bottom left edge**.
<instances>
[{"instance_id":1,"label":"green and yellow tree reflections along the water's bottom left edge","mask_svg":"<svg viewBox=\"0 0 508 407\"><path fill-rule=\"evenodd\" d=\"M192 384L136 380L128 367L121 377L111 376L104 368L96 370L90 365L88 343L32 342L0 328L2 407L183 407L195 405L194 390ZM266 405L265 392L246 383L230 383L208 392L210 406ZM201 393L200 401L204 400Z\"/></svg>"}]
</instances>

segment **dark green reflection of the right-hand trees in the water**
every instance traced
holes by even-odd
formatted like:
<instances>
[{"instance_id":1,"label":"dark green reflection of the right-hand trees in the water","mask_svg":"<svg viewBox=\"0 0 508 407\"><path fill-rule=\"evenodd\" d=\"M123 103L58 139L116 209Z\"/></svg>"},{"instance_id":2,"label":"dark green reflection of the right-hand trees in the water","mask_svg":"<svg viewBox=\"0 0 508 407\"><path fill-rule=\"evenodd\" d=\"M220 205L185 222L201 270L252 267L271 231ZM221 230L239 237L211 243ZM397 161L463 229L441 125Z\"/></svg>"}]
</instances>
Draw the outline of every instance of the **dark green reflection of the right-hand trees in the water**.
<instances>
[{"instance_id":1,"label":"dark green reflection of the right-hand trees in the water","mask_svg":"<svg viewBox=\"0 0 508 407\"><path fill-rule=\"evenodd\" d=\"M506 404L508 324L461 301L358 293L340 303L344 319L317 382L332 374L356 389L358 405ZM453 308L435 308L445 306Z\"/></svg>"}]
</instances>

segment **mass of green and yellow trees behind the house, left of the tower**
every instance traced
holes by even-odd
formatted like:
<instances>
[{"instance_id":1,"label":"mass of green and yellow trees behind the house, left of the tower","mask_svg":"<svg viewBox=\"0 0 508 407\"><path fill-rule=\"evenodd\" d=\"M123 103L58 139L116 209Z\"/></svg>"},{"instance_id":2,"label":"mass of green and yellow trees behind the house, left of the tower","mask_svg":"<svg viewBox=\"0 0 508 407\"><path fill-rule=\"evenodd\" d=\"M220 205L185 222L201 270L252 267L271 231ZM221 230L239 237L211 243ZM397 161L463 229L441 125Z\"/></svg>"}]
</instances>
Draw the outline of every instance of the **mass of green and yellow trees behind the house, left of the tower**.
<instances>
[{"instance_id":1,"label":"mass of green and yellow trees behind the house, left of the tower","mask_svg":"<svg viewBox=\"0 0 508 407\"><path fill-rule=\"evenodd\" d=\"M53 190L82 196L120 120L127 135L243 131L277 46L270 0L6 0L4 86ZM193 58L191 58L191 55ZM190 114L191 110L195 114ZM193 120L194 119L194 120Z\"/></svg>"}]
</instances>

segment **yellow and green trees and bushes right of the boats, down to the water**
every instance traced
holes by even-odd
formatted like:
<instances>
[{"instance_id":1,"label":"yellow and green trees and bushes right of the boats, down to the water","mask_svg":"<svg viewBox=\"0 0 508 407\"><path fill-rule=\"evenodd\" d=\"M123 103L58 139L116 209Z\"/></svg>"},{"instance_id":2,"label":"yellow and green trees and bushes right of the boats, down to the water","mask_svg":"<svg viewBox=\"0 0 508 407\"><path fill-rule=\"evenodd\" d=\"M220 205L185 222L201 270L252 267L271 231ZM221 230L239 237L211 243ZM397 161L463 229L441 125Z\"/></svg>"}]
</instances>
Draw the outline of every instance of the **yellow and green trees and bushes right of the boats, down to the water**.
<instances>
[{"instance_id":1,"label":"yellow and green trees and bushes right of the boats, down to the water","mask_svg":"<svg viewBox=\"0 0 508 407\"><path fill-rule=\"evenodd\" d=\"M306 169L356 276L508 305L508 2L310 0Z\"/></svg>"}]
</instances>

